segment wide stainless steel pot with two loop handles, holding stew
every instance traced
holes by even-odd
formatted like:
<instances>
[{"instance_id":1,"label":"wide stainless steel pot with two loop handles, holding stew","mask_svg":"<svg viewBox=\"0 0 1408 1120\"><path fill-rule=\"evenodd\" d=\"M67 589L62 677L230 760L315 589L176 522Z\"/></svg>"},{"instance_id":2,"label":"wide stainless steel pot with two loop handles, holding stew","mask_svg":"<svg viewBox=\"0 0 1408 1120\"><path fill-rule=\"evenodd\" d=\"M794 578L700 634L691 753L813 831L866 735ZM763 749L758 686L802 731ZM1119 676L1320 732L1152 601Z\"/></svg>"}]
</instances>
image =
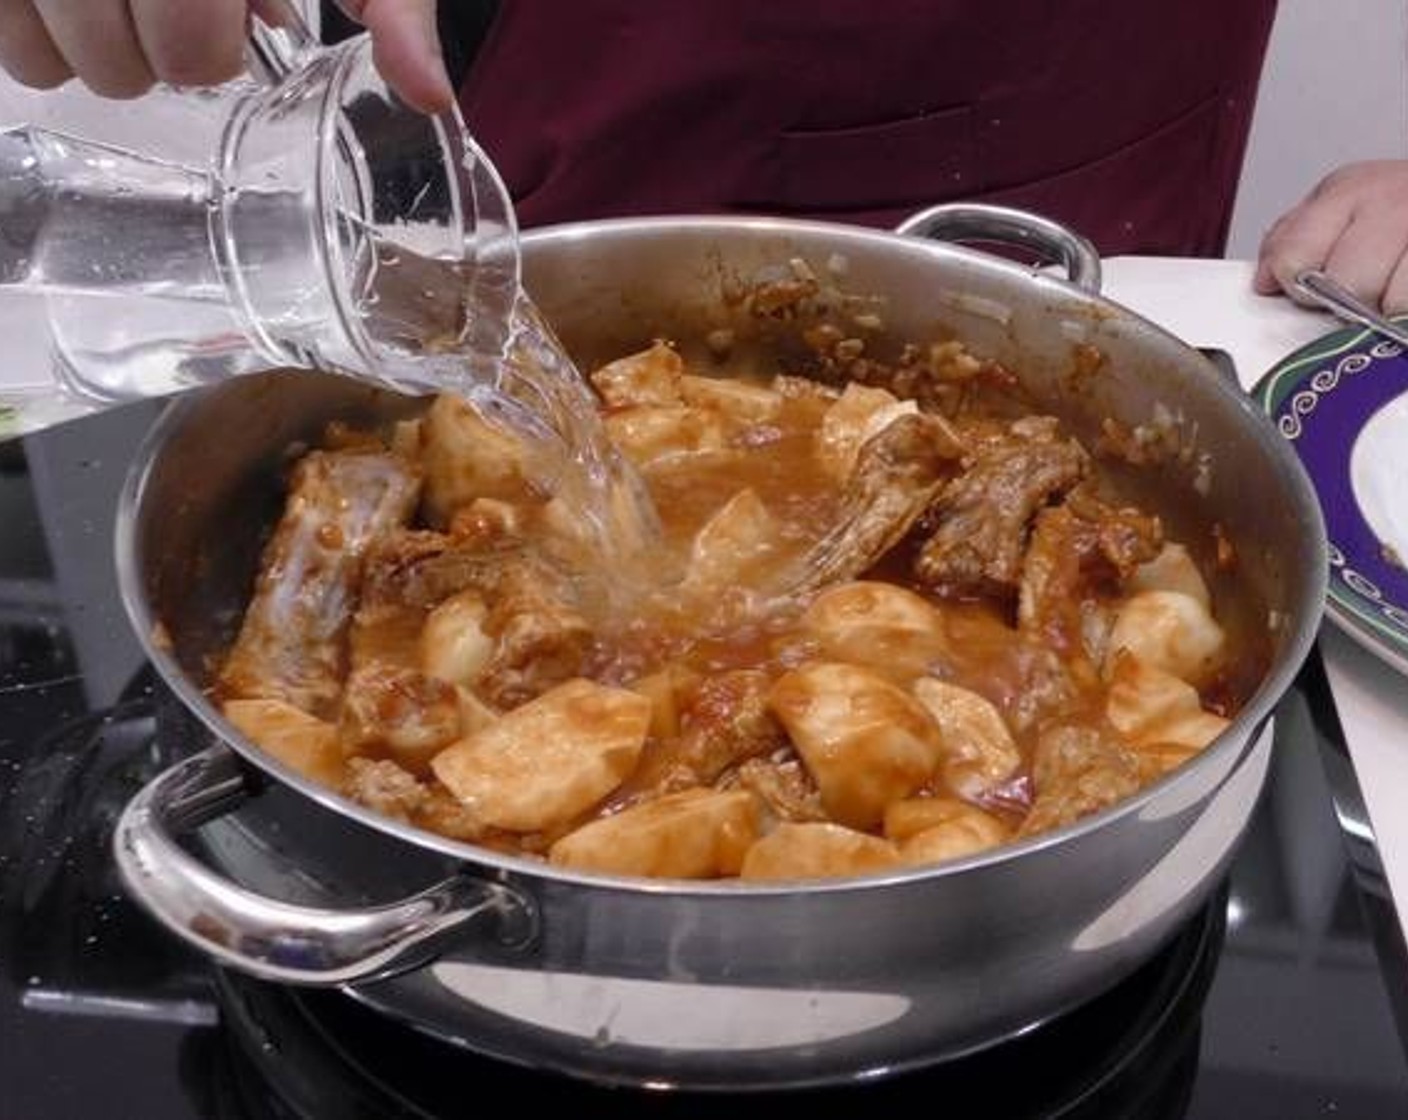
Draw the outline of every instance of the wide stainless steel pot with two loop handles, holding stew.
<instances>
[{"instance_id":1,"label":"wide stainless steel pot with two loop handles, holding stew","mask_svg":"<svg viewBox=\"0 0 1408 1120\"><path fill-rule=\"evenodd\" d=\"M131 802L115 834L130 890L252 975L344 985L484 1052L650 1085L804 1085L931 1062L1088 999L1156 952L1219 881L1262 789L1266 724L1321 617L1315 499L1200 354L1088 290L1098 262L1077 238L972 207L911 227L1055 247L1081 283L918 237L743 218L545 230L524 241L525 275L569 349L601 356L707 327L729 283L801 258L881 296L894 337L949 331L1008 363L1087 434L1105 416L1171 425L1188 455L1155 479L1162 504L1226 527L1273 633L1270 671L1212 747L1062 831L804 888L570 873L397 824L262 754L201 690L277 513L289 445L334 416L414 407L275 373L176 403L122 499L132 623L184 704L177 734L217 744ZM1094 373L1073 358L1088 348L1107 359Z\"/></svg>"}]
</instances>

